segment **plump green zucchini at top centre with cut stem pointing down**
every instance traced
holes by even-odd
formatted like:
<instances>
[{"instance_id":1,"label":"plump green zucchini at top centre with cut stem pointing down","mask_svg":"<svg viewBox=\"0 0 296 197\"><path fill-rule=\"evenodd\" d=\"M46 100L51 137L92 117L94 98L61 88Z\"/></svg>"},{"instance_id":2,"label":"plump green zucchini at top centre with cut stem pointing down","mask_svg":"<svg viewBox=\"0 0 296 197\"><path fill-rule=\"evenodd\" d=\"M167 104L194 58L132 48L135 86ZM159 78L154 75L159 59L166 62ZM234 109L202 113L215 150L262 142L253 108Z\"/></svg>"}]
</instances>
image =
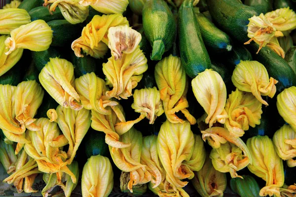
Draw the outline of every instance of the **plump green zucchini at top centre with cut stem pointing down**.
<instances>
[{"instance_id":1,"label":"plump green zucchini at top centre with cut stem pointing down","mask_svg":"<svg viewBox=\"0 0 296 197\"><path fill-rule=\"evenodd\" d=\"M174 15L164 0L148 0L143 8L143 27L152 46L151 60L161 60L176 36Z\"/></svg>"}]
</instances>

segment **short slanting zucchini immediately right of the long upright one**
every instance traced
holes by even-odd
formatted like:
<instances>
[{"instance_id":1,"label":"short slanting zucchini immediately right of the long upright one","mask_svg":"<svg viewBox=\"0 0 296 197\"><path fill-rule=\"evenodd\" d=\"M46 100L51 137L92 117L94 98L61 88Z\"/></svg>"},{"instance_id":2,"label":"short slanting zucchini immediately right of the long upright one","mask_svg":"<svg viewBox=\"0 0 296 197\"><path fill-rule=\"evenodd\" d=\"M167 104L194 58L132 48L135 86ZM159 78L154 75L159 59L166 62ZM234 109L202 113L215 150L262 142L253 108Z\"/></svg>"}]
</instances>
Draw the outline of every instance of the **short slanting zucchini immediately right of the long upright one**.
<instances>
[{"instance_id":1,"label":"short slanting zucchini immediately right of the long upright one","mask_svg":"<svg viewBox=\"0 0 296 197\"><path fill-rule=\"evenodd\" d=\"M201 13L196 13L202 40L206 48L214 53L231 51L229 36L219 30L207 17Z\"/></svg>"}]
</instances>

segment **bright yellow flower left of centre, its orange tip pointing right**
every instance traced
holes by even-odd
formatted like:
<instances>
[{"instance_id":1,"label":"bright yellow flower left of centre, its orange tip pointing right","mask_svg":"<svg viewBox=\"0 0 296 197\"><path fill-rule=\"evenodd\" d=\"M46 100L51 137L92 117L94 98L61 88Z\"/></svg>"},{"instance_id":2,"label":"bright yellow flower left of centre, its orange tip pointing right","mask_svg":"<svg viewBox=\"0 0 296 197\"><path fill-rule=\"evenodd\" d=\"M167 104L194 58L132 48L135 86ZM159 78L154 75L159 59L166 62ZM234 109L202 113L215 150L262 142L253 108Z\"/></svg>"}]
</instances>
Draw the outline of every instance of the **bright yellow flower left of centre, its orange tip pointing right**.
<instances>
[{"instance_id":1,"label":"bright yellow flower left of centre, its orange tip pointing right","mask_svg":"<svg viewBox=\"0 0 296 197\"><path fill-rule=\"evenodd\" d=\"M94 72L86 73L75 79L75 88L85 109L95 110L100 114L110 114L107 106L115 106L118 103L106 97L108 90L105 81L96 76Z\"/></svg>"}]
</instances>

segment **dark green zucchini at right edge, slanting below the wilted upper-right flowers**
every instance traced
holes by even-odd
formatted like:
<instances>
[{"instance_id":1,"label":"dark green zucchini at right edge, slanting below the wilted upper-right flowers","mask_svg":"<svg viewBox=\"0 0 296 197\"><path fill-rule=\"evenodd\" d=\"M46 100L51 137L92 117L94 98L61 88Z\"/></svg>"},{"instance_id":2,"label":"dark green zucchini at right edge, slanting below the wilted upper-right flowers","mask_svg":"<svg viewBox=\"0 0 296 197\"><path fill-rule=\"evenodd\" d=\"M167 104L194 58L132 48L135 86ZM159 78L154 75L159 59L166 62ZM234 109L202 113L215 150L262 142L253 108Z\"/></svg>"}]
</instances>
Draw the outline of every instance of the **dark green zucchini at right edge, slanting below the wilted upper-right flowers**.
<instances>
[{"instance_id":1,"label":"dark green zucchini at right edge, slanting below the wilted upper-right flowers","mask_svg":"<svg viewBox=\"0 0 296 197\"><path fill-rule=\"evenodd\" d=\"M278 80L276 91L282 92L286 88L296 86L296 74L288 63L271 50L268 46L263 47L258 54L258 44L246 45L250 52L253 54L253 59L265 66L269 77Z\"/></svg>"}]
</instances>

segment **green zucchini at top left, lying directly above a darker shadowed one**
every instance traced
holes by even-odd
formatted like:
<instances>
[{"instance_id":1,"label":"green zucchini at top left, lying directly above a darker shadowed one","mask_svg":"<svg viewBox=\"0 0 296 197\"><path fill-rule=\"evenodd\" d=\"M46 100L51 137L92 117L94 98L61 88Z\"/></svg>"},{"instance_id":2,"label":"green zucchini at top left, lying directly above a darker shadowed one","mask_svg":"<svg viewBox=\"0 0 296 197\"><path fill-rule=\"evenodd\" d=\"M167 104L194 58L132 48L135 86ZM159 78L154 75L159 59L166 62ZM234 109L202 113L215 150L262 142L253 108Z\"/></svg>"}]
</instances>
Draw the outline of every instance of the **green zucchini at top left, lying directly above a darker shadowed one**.
<instances>
[{"instance_id":1,"label":"green zucchini at top left, lying directly above a darker shadowed one","mask_svg":"<svg viewBox=\"0 0 296 197\"><path fill-rule=\"evenodd\" d=\"M64 16L59 7L52 13L49 12L48 7L38 6L29 11L31 21L43 20L46 23L52 20L64 19Z\"/></svg>"}]
</instances>

